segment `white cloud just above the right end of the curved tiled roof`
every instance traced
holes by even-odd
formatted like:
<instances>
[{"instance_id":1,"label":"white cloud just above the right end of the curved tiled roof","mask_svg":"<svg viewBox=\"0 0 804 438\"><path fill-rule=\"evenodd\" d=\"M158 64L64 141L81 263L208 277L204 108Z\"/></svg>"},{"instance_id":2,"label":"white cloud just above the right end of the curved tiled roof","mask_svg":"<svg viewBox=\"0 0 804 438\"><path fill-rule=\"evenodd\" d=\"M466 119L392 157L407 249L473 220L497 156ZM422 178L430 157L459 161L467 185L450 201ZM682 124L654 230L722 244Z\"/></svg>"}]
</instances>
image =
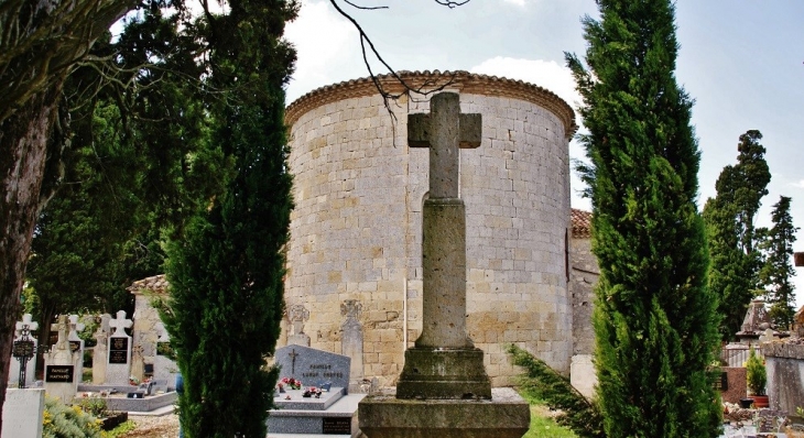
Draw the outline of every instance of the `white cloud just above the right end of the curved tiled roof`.
<instances>
[{"instance_id":1,"label":"white cloud just above the right end of the curved tiled roof","mask_svg":"<svg viewBox=\"0 0 804 438\"><path fill-rule=\"evenodd\" d=\"M569 68L555 61L497 56L471 67L470 72L535 84L555 92L573 108L580 102L580 95L575 90L575 79Z\"/></svg>"}]
</instances>

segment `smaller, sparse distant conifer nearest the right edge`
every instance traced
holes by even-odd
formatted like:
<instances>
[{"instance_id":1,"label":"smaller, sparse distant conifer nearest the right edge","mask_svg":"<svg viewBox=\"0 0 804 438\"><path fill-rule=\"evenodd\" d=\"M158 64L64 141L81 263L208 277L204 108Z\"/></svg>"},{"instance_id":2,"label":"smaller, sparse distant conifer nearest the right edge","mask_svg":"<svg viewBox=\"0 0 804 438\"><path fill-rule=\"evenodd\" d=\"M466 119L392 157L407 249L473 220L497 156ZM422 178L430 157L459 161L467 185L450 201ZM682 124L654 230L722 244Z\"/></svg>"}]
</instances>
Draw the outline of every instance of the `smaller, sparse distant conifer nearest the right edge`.
<instances>
[{"instance_id":1,"label":"smaller, sparse distant conifer nearest the right edge","mask_svg":"<svg viewBox=\"0 0 804 438\"><path fill-rule=\"evenodd\" d=\"M780 196L779 202L773 205L771 212L773 227L770 230L762 230L765 238L760 243L765 254L765 263L759 275L760 282L768 291L771 320L783 329L791 327L795 316L795 285L791 280L795 275L795 270L791 259L798 228L793 227L790 201L791 198Z\"/></svg>"}]
</instances>

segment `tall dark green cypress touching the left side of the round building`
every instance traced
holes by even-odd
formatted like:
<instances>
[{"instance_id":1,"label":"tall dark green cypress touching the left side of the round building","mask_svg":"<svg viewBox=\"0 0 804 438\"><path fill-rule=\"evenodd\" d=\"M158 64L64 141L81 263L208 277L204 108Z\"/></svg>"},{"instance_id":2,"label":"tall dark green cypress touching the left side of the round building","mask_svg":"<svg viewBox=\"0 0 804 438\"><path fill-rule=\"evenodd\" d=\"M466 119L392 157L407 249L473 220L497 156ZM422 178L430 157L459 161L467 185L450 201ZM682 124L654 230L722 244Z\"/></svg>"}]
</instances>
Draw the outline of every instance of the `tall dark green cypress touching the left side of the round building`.
<instances>
[{"instance_id":1,"label":"tall dark green cypress touching the left side of the round building","mask_svg":"<svg viewBox=\"0 0 804 438\"><path fill-rule=\"evenodd\" d=\"M195 26L209 41L213 141L235 163L226 189L169 245L171 299L162 318L185 382L188 437L267 435L278 369L267 369L283 313L293 207L284 91L295 52L281 40L296 4L239 0Z\"/></svg>"}]
</instances>

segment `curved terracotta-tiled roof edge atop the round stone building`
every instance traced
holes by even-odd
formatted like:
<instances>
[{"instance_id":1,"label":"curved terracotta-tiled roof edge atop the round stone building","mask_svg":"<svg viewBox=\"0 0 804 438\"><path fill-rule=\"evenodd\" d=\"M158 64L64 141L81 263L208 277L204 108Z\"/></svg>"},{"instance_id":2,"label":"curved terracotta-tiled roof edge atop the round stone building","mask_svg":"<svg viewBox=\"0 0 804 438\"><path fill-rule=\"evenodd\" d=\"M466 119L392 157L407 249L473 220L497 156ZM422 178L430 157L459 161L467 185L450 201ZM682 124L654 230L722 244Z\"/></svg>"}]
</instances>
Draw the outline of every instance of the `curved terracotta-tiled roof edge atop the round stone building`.
<instances>
[{"instance_id":1,"label":"curved terracotta-tiled roof edge atop the round stone building","mask_svg":"<svg viewBox=\"0 0 804 438\"><path fill-rule=\"evenodd\" d=\"M554 113L564 124L564 135L569 139L577 131L575 111L553 91L534 84L503 77L478 75L469 72L396 72L395 75L378 75L377 84L391 94L402 94L404 88L399 79L413 89L434 89L445 86L447 90L458 90L471 95L507 97L535 103ZM293 101L285 110L285 123L293 125L300 117L320 106L344 99L377 96L374 79L365 77L346 80L317 88Z\"/></svg>"}]
</instances>

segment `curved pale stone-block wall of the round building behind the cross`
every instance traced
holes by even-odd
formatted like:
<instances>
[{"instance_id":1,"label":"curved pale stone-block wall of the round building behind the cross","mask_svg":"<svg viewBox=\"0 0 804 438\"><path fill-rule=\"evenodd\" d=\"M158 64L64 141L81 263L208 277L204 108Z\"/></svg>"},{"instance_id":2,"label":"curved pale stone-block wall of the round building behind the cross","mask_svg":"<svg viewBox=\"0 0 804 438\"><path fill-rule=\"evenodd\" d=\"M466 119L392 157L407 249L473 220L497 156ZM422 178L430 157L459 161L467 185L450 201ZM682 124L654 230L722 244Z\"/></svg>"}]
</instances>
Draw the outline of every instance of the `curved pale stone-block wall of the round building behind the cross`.
<instances>
[{"instance_id":1,"label":"curved pale stone-block wall of the round building behind the cross","mask_svg":"<svg viewBox=\"0 0 804 438\"><path fill-rule=\"evenodd\" d=\"M504 353L508 343L568 373L567 132L574 127L535 103L522 83L509 81L517 98L472 78L450 89L460 94L463 112L482 114L480 147L463 150L460 157L469 336L486 352L496 386L520 373ZM356 92L354 81L327 87L316 91L328 95L320 105L311 103L311 95L300 99L306 109L291 123L296 209L285 302L309 310L304 332L313 348L339 353L340 304L359 300L365 374L391 385L422 327L428 150L409 149L405 138L406 114L428 111L428 98L403 96L392 105L394 139L392 120L370 87L362 92L371 96ZM338 92L344 96L333 97Z\"/></svg>"}]
</instances>

